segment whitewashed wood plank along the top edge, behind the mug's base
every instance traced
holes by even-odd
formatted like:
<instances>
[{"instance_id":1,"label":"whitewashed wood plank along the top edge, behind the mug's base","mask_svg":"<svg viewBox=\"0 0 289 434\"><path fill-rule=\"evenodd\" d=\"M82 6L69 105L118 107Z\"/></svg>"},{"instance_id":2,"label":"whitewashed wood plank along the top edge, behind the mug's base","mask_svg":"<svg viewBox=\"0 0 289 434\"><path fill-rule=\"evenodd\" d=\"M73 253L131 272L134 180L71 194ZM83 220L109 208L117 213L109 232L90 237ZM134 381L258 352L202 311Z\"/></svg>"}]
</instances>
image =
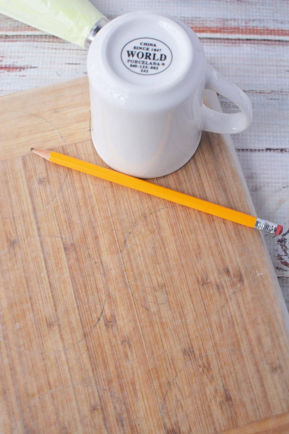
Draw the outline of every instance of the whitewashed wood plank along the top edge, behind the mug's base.
<instances>
[{"instance_id":1,"label":"whitewashed wood plank along the top edge, behind the mug's base","mask_svg":"<svg viewBox=\"0 0 289 434\"><path fill-rule=\"evenodd\" d=\"M289 3L284 0L91 0L91 3L110 19L136 10L168 13L192 26L200 37L289 40ZM39 31L0 17L0 35L19 33L39 34Z\"/></svg>"}]
</instances>

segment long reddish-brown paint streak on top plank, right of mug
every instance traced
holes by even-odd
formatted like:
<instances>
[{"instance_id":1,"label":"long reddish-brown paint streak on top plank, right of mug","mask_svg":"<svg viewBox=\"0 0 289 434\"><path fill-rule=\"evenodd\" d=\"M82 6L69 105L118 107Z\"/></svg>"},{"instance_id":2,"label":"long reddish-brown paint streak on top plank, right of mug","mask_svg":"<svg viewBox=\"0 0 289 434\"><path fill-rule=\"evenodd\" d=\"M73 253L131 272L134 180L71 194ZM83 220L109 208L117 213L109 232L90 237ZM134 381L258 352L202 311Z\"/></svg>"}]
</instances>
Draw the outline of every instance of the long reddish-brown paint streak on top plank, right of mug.
<instances>
[{"instance_id":1,"label":"long reddish-brown paint streak on top plank, right of mug","mask_svg":"<svg viewBox=\"0 0 289 434\"><path fill-rule=\"evenodd\" d=\"M194 26L189 24L195 33L207 33L207 34L227 34L227 35L256 35L256 36L288 36L289 30L285 29L267 29L257 27L229 27L229 26Z\"/></svg>"}]
</instances>

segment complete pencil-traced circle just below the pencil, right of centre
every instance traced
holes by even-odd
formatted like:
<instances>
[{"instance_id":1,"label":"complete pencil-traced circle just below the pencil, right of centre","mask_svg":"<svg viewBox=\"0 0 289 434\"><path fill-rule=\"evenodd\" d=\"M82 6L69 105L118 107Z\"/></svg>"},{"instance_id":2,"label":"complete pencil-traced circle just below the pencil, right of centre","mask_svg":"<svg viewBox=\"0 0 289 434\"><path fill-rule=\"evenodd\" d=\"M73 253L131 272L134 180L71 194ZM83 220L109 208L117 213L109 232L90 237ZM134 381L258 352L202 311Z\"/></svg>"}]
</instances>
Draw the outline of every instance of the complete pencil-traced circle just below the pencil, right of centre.
<instances>
[{"instance_id":1,"label":"complete pencil-traced circle just below the pencil, right of centre","mask_svg":"<svg viewBox=\"0 0 289 434\"><path fill-rule=\"evenodd\" d=\"M242 289L244 267L228 268L230 249L222 252L224 260L216 260L218 240L198 236L199 228L192 210L169 205L146 214L124 240L121 256L127 288L154 315L180 322L203 319Z\"/></svg>"}]
</instances>

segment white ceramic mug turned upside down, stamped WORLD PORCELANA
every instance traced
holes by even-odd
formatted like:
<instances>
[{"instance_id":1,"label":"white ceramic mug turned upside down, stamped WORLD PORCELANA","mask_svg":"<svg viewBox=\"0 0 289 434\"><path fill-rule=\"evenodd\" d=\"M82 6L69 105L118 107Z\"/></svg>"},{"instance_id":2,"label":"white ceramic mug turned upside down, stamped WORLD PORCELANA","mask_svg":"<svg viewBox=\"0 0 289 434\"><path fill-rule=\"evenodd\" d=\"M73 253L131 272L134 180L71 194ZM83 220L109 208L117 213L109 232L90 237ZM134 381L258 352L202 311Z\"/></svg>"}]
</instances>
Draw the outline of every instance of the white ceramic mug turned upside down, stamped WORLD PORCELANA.
<instances>
[{"instance_id":1,"label":"white ceramic mug turned upside down, stamped WORLD PORCELANA","mask_svg":"<svg viewBox=\"0 0 289 434\"><path fill-rule=\"evenodd\" d=\"M250 125L247 95L205 60L200 40L180 20L127 13L106 24L88 51L92 140L113 169L154 178L182 167L202 131L238 133ZM204 89L240 112L203 104Z\"/></svg>"}]
</instances>

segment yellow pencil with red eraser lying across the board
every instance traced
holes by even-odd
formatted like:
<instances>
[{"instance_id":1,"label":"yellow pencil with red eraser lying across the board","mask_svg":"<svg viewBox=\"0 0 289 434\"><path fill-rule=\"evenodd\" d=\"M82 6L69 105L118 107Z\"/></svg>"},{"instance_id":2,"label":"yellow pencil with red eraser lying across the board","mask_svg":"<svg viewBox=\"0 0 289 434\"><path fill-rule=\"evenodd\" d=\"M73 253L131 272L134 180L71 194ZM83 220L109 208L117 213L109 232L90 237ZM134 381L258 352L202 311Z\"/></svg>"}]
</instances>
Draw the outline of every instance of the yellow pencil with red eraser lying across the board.
<instances>
[{"instance_id":1,"label":"yellow pencil with red eraser lying across the board","mask_svg":"<svg viewBox=\"0 0 289 434\"><path fill-rule=\"evenodd\" d=\"M130 175L97 166L96 164L87 163L86 161L78 160L78 158L69 157L68 155L60 154L55 151L42 151L34 148L31 148L30 151L46 158L46 160L52 161L52 163L60 164L61 166L75 169L96 176L97 178L105 179L106 181L114 182L115 184L130 187L134 190L142 191L143 193L152 194L153 196L161 197L167 201L185 205L186 207L194 208L195 210L203 211L226 220L231 220L235 223L254 227L276 235L280 235L283 231L283 227L279 224L260 219L259 217L253 217L249 214L232 210L230 208L222 207L221 205L213 204L198 199L197 197L189 196L188 194L180 193L179 191L144 181L143 179L134 178Z\"/></svg>"}]
</instances>

